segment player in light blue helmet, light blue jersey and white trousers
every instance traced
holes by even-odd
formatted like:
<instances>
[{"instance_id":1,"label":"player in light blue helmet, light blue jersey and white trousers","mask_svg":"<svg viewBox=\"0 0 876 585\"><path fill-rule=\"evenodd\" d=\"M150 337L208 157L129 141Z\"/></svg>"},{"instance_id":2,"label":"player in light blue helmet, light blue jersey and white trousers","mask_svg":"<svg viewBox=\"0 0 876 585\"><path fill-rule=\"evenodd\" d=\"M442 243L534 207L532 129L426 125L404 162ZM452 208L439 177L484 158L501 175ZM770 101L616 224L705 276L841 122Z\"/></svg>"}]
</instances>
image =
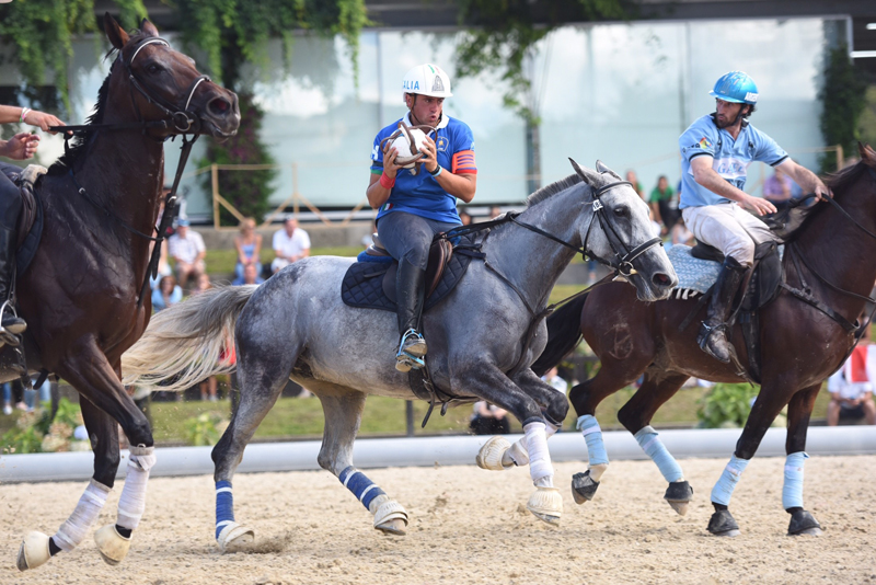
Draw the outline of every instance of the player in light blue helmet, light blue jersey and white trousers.
<instances>
[{"instance_id":1,"label":"player in light blue helmet, light blue jersey and white trousers","mask_svg":"<svg viewBox=\"0 0 876 585\"><path fill-rule=\"evenodd\" d=\"M696 239L725 256L698 342L726 364L733 352L725 332L730 305L753 263L754 246L775 240L766 223L744 209L758 216L775 213L772 203L742 191L748 165L761 161L781 168L819 200L831 194L815 173L748 123L758 102L758 88L750 77L730 71L717 80L710 95L717 103L715 113L691 124L679 138L683 183L679 208Z\"/></svg>"}]
</instances>

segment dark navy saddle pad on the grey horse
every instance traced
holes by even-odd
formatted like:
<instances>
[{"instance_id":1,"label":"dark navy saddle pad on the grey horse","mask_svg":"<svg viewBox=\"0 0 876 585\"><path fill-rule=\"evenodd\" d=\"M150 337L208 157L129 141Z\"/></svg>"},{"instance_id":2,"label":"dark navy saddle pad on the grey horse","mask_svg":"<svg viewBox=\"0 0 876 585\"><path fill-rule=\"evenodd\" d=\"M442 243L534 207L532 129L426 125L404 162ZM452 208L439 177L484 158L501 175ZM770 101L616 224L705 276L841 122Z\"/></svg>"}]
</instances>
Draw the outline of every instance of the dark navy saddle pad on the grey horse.
<instances>
[{"instance_id":1,"label":"dark navy saddle pad on the grey horse","mask_svg":"<svg viewBox=\"0 0 876 585\"><path fill-rule=\"evenodd\" d=\"M359 257L361 259L361 254ZM474 257L482 257L480 245L473 244L469 237L464 237L453 244L450 262L448 262L435 291L426 299L423 312L441 302L453 290L465 275L465 271ZM394 313L395 302L383 292L383 278L387 277L387 273L393 264L397 264L397 262L388 259L360 261L351 265L341 283L341 298L344 303L360 309L380 309Z\"/></svg>"}]
</instances>

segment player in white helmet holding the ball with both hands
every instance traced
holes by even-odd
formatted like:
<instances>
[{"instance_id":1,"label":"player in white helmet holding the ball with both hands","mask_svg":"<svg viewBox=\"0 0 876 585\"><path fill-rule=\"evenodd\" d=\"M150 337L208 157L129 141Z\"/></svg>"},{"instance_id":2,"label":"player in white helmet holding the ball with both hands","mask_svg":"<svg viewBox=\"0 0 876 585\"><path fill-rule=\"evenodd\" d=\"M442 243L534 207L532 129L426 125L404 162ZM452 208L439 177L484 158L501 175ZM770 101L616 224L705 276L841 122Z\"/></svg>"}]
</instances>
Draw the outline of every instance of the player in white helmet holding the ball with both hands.
<instances>
[{"instance_id":1,"label":"player in white helmet holding the ball with both hands","mask_svg":"<svg viewBox=\"0 0 876 585\"><path fill-rule=\"evenodd\" d=\"M457 199L471 203L474 198L477 168L471 129L442 113L445 97L452 95L448 74L435 65L419 65L404 76L402 91L408 112L374 138L366 195L371 207L379 209L380 241L399 261L395 290L401 342L395 369L410 371L423 367L427 352L419 318L429 245L436 233L461 225ZM424 140L419 172L397 163L399 151L392 142L385 151L381 148L400 122L435 130Z\"/></svg>"}]
</instances>

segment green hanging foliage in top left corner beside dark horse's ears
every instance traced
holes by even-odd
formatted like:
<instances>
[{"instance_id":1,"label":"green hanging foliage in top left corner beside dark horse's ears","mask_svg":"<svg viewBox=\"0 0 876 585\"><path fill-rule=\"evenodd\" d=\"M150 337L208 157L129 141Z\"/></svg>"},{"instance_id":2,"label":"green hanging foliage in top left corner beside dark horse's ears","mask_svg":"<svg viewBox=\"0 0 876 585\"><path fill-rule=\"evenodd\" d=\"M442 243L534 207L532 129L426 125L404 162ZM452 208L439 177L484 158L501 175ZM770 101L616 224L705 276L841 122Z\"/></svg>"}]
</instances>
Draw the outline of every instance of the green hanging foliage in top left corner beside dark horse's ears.
<instances>
[{"instance_id":1,"label":"green hanging foliage in top left corner beside dark horse's ears","mask_svg":"<svg viewBox=\"0 0 876 585\"><path fill-rule=\"evenodd\" d=\"M142 0L114 0L122 24L132 27L146 16ZM67 66L74 35L96 31L94 0L18 0L0 7L0 39L14 44L23 79L21 93L30 103L62 112L70 107ZM46 91L54 73L54 89Z\"/></svg>"}]
</instances>

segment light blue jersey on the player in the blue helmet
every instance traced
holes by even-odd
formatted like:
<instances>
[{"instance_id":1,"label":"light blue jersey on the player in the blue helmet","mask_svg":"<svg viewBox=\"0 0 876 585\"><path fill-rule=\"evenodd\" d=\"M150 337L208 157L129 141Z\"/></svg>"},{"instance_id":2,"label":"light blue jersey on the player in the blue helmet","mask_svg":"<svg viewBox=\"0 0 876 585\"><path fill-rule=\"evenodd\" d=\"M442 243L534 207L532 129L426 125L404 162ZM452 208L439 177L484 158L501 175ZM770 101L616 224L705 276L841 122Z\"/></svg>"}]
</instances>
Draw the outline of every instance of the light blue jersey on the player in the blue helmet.
<instances>
[{"instance_id":1,"label":"light blue jersey on the player in the blue helmet","mask_svg":"<svg viewBox=\"0 0 876 585\"><path fill-rule=\"evenodd\" d=\"M775 167L787 158L787 152L782 150L775 140L745 122L739 136L734 140L730 133L717 127L712 114L691 124L678 139L678 146L681 149L682 184L678 205L680 209L729 200L694 181L691 161L696 157L711 157L715 172L740 190L745 190L748 165L751 161Z\"/></svg>"}]
</instances>

